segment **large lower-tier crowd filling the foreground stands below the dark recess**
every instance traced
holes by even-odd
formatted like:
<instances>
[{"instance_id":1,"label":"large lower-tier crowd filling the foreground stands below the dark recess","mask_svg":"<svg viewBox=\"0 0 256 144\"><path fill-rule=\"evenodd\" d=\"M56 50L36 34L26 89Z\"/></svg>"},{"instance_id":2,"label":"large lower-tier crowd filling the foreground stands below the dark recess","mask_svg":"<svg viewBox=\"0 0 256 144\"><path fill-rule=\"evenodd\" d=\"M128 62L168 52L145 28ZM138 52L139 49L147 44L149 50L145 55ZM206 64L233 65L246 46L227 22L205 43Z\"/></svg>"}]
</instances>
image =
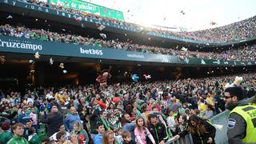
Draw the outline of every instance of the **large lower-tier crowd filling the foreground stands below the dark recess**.
<instances>
[{"instance_id":1,"label":"large lower-tier crowd filling the foreground stands below the dark recess","mask_svg":"<svg viewBox=\"0 0 256 144\"><path fill-rule=\"evenodd\" d=\"M256 75L239 76L244 79L244 98L254 96ZM233 80L230 75L105 87L38 87L26 94L0 90L0 142L165 143L182 134L194 115L208 119L225 110L222 93Z\"/></svg>"}]
</instances>

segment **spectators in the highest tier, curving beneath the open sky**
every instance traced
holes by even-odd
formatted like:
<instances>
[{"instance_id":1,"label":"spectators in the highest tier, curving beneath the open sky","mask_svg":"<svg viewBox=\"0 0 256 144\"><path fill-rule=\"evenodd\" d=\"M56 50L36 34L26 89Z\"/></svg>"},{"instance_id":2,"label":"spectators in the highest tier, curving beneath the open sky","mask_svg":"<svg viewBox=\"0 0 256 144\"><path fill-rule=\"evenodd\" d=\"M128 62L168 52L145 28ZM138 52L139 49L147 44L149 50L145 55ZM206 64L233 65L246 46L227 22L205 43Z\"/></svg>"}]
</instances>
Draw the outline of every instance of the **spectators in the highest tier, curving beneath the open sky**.
<instances>
[{"instance_id":1,"label":"spectators in the highest tier, curving beneath the open sky","mask_svg":"<svg viewBox=\"0 0 256 144\"><path fill-rule=\"evenodd\" d=\"M95 14L90 14L90 13L82 12L79 10L73 10L61 5L50 5L48 3L40 2L36 0L23 0L22 2L30 2L38 6L46 6L54 10L65 11L72 14L81 14L83 18L95 18L98 20L103 19L106 22L111 22L116 25L134 27L134 29L130 29L130 30L133 30L133 31L145 30L146 32L151 32L151 33L147 33L147 35L149 36L152 36L152 34L153 36L158 36L159 34L162 34L161 37L163 38L178 37L178 38L182 38L185 41L194 40L194 41L202 41L202 42L239 42L249 38L256 38L256 16L242 20L240 22L234 22L227 26L220 26L214 29L199 30L194 32L172 32L168 30L157 30L157 29L145 28L143 26L139 26L133 23L121 22L113 18L103 18Z\"/></svg>"}]
</instances>

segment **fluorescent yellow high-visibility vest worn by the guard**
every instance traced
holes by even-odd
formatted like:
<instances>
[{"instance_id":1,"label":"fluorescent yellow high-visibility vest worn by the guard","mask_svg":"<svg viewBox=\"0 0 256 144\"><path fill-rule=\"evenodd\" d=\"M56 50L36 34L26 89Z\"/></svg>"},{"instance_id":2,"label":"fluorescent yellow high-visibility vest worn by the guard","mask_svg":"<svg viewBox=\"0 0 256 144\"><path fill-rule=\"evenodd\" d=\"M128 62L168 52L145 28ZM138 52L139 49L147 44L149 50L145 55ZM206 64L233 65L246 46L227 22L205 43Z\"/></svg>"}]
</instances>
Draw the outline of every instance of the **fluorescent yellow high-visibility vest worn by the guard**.
<instances>
[{"instance_id":1,"label":"fluorescent yellow high-visibility vest worn by the guard","mask_svg":"<svg viewBox=\"0 0 256 144\"><path fill-rule=\"evenodd\" d=\"M237 106L230 112L237 113L246 121L246 137L244 143L256 142L256 105Z\"/></svg>"}]
</instances>

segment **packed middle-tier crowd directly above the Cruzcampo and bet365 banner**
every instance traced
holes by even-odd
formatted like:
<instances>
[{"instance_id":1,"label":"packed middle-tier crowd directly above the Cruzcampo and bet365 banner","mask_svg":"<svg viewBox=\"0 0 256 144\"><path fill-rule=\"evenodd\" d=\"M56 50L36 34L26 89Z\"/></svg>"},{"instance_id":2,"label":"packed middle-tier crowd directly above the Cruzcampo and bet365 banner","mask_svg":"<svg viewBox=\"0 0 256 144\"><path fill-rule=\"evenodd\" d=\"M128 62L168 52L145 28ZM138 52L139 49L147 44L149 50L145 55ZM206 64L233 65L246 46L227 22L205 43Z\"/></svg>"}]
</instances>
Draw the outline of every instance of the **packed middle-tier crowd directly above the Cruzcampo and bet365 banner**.
<instances>
[{"instance_id":1,"label":"packed middle-tier crowd directly above the Cruzcampo and bet365 banner","mask_svg":"<svg viewBox=\"0 0 256 144\"><path fill-rule=\"evenodd\" d=\"M242 46L235 50L226 50L224 52L198 52L184 51L174 48L162 48L158 46L145 46L134 44L131 42L119 42L115 40L104 40L98 38L87 38L81 35L71 35L66 33L56 33L46 30L29 29L24 26L10 26L8 24L0 26L0 35L14 36L18 38L32 38L50 42L65 42L75 45L86 45L96 47L106 47L118 50L137 51L150 54L167 54L174 56L182 56L187 58L208 58L208 59L224 59L236 61L254 61L256 55L256 45Z\"/></svg>"}]
</instances>

